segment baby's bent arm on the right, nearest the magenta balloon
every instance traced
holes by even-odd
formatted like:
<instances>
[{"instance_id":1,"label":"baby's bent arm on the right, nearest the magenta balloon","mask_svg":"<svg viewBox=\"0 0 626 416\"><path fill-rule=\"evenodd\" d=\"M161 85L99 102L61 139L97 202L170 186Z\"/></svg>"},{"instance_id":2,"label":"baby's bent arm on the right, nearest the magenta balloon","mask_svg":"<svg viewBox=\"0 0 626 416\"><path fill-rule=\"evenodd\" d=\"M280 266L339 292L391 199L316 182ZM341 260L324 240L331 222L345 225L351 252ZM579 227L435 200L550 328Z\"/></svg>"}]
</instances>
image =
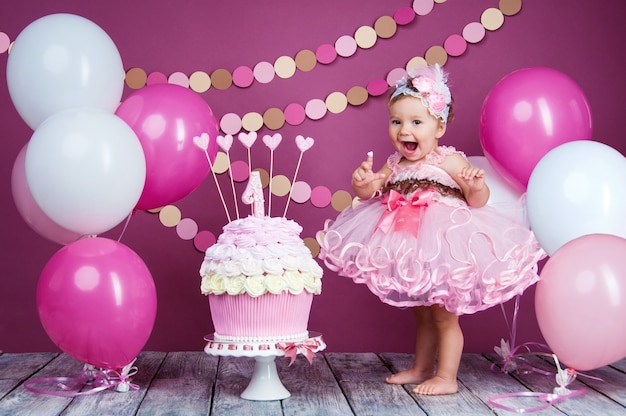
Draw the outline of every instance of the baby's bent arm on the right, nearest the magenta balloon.
<instances>
[{"instance_id":1,"label":"baby's bent arm on the right, nearest the magenta balloon","mask_svg":"<svg viewBox=\"0 0 626 416\"><path fill-rule=\"evenodd\" d=\"M485 170L469 164L459 154L451 154L440 165L454 179L461 190L467 205L475 208L484 206L489 200L489 187L485 183Z\"/></svg>"}]
</instances>

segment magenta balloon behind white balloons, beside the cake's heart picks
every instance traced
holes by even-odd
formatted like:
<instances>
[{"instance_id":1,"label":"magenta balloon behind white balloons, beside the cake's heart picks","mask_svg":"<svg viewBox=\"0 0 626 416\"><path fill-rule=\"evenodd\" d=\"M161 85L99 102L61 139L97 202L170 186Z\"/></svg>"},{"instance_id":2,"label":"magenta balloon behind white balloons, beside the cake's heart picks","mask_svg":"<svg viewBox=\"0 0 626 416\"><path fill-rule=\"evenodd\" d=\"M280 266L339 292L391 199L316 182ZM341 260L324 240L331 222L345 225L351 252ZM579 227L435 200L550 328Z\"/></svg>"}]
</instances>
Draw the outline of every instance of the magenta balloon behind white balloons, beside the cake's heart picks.
<instances>
[{"instance_id":1,"label":"magenta balloon behind white balloons, beside the cake's heart picks","mask_svg":"<svg viewBox=\"0 0 626 416\"><path fill-rule=\"evenodd\" d=\"M193 138L208 133L217 154L218 121L195 92L174 84L149 85L122 102L116 115L135 132L146 157L146 183L137 209L159 208L190 194L209 173Z\"/></svg>"}]
</instances>

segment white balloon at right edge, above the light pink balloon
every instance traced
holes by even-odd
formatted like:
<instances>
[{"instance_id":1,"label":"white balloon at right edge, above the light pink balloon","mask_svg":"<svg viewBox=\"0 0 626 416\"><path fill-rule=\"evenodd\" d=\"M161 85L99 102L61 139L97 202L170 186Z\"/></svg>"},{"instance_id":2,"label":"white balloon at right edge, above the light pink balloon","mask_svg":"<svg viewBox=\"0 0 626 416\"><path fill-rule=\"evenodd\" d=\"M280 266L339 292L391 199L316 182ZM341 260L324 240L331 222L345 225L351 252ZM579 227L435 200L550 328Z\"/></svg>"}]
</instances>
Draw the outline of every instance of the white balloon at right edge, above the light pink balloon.
<instances>
[{"instance_id":1,"label":"white balloon at right edge, above the light pink balloon","mask_svg":"<svg viewBox=\"0 0 626 416\"><path fill-rule=\"evenodd\" d=\"M626 238L626 158L590 140L572 141L543 156L528 181L530 226L548 253L588 234Z\"/></svg>"}]
</instances>

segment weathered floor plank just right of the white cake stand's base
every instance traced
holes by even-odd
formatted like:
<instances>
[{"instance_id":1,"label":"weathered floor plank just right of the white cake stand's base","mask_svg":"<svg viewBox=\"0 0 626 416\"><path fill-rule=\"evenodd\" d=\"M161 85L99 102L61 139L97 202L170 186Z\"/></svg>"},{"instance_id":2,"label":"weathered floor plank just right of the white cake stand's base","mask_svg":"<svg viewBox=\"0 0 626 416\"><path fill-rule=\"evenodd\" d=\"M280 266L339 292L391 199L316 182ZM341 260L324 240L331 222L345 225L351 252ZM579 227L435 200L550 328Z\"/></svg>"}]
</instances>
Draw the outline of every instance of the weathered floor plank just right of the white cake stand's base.
<instances>
[{"instance_id":1,"label":"weathered floor plank just right of the white cake stand's base","mask_svg":"<svg viewBox=\"0 0 626 416\"><path fill-rule=\"evenodd\" d=\"M283 385L291 393L291 397L283 401L286 416L352 414L323 354L317 354L313 364L300 356L290 367L288 359L277 358L276 367Z\"/></svg>"}]
</instances>

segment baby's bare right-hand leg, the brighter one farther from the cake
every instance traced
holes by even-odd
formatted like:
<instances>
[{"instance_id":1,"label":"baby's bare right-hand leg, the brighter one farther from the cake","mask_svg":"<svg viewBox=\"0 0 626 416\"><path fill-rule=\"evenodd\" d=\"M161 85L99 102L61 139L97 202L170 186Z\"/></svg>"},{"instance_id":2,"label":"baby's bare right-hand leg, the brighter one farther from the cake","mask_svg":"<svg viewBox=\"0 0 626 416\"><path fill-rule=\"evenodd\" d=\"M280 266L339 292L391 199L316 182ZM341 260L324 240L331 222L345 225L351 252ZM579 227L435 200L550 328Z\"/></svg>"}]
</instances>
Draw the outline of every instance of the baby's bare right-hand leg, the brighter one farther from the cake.
<instances>
[{"instance_id":1,"label":"baby's bare right-hand leg, the brighter one farther from the cake","mask_svg":"<svg viewBox=\"0 0 626 416\"><path fill-rule=\"evenodd\" d=\"M463 353L463 332L459 317L445 308L432 306L435 326L439 333L439 360L437 374L419 384L417 394L452 394L458 391L456 376Z\"/></svg>"}]
</instances>

